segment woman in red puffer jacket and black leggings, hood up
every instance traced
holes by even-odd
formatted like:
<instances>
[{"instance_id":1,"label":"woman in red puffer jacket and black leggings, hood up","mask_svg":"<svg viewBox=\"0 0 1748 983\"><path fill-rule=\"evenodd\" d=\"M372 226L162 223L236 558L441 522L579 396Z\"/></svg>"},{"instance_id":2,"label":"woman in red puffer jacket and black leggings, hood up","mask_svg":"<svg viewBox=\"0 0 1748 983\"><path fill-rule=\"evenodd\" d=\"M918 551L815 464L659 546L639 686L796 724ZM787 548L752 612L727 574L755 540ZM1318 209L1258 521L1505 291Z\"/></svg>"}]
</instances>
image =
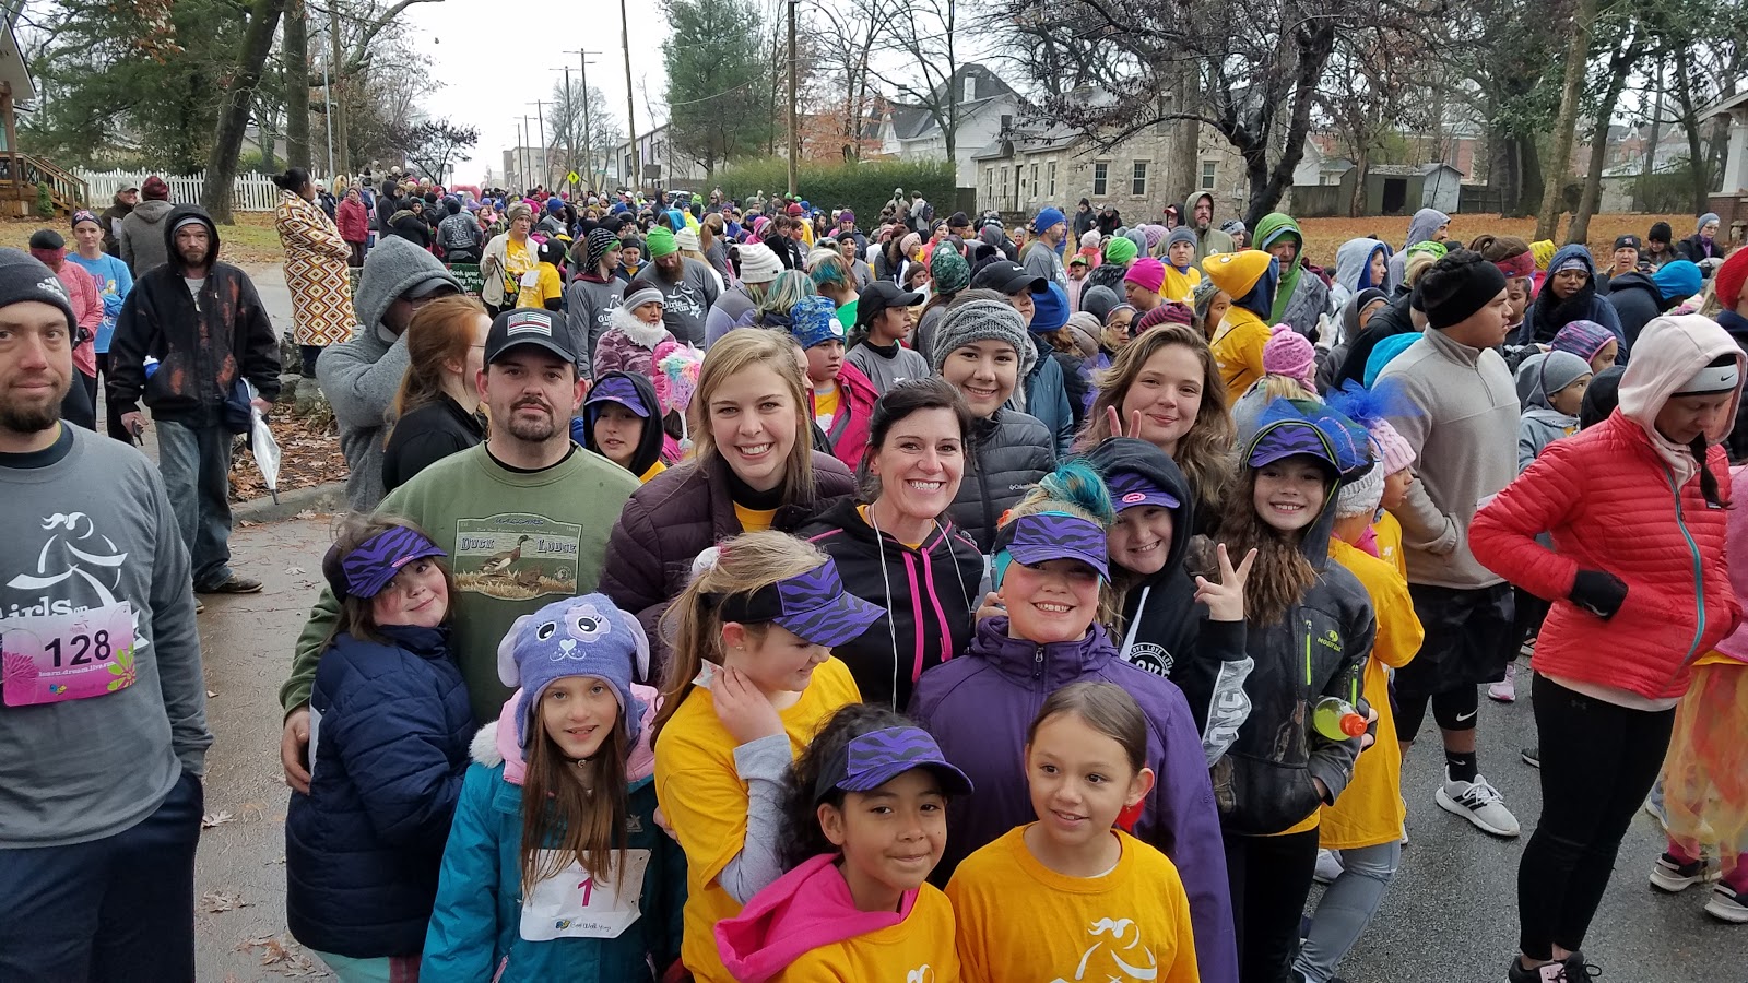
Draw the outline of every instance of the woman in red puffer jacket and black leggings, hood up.
<instances>
[{"instance_id":1,"label":"woman in red puffer jacket and black leggings, hood up","mask_svg":"<svg viewBox=\"0 0 1748 983\"><path fill-rule=\"evenodd\" d=\"M1741 621L1720 444L1743 353L1697 315L1659 317L1640 339L1620 408L1549 444L1468 532L1475 560L1552 602L1531 659L1543 805L1517 873L1517 981L1589 980L1578 946L1675 707ZM1554 549L1535 540L1542 530Z\"/></svg>"}]
</instances>

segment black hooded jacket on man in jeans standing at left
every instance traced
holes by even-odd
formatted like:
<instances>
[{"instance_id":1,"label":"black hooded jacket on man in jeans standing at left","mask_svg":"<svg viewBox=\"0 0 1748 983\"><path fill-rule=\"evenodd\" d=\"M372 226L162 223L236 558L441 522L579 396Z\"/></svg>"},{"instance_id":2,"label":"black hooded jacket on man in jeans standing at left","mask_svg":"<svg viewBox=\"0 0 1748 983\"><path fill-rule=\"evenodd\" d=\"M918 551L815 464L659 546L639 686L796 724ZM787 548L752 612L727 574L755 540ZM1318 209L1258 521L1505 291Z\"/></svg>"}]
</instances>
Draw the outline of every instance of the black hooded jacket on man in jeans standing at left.
<instances>
[{"instance_id":1,"label":"black hooded jacket on man in jeans standing at left","mask_svg":"<svg viewBox=\"0 0 1748 983\"><path fill-rule=\"evenodd\" d=\"M206 226L206 278L196 296L177 252L177 226L196 219ZM140 409L157 420L213 427L231 383L241 374L262 399L280 395L280 336L248 275L218 262L218 229L192 205L164 219L170 261L145 271L115 318L110 341L108 397L115 413ZM145 376L147 355L157 359Z\"/></svg>"}]
</instances>

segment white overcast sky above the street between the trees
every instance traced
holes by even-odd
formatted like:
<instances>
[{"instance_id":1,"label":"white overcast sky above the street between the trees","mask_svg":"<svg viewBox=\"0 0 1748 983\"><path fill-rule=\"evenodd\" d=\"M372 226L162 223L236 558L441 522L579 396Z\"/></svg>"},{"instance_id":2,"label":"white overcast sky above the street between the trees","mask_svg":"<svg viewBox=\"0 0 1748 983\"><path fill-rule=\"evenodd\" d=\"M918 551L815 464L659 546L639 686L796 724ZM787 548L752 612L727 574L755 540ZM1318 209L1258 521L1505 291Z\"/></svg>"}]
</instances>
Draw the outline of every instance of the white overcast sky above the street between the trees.
<instances>
[{"instance_id":1,"label":"white overcast sky above the street between the trees","mask_svg":"<svg viewBox=\"0 0 1748 983\"><path fill-rule=\"evenodd\" d=\"M668 87L661 45L668 40L668 21L656 0L626 0L631 14L631 80L636 87L638 133L650 129L643 87L650 101L661 103ZM580 26L587 12L587 26ZM477 126L479 143L470 163L456 166L463 184L479 182L489 166L503 177L503 150L516 147L523 114L535 126L530 145L540 143L535 100L547 100L554 84L565 82L570 65L572 89L582 91L575 54L587 47L589 86L600 89L621 133L626 128L626 65L619 45L619 3L552 3L551 0L442 0L414 3L404 14L413 24L414 44L432 59L432 93L421 101L435 117ZM434 38L437 44L421 44ZM523 105L528 103L528 105ZM551 136L551 135L549 135Z\"/></svg>"}]
</instances>

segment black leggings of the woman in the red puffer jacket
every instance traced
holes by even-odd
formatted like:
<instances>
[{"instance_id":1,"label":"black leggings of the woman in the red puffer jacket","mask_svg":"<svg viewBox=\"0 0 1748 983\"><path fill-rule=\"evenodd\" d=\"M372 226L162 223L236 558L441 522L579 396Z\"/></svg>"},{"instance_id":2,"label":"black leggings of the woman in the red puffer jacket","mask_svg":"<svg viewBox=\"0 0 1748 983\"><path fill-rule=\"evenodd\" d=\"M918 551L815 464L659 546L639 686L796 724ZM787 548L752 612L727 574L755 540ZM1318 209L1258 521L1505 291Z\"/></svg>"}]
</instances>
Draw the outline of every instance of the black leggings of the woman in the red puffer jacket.
<instances>
[{"instance_id":1,"label":"black leggings of the woman in the red puffer jacket","mask_svg":"<svg viewBox=\"0 0 1748 983\"><path fill-rule=\"evenodd\" d=\"M1669 750L1675 710L1627 710L1536 675L1542 819L1517 864L1517 941L1530 959L1577 952L1603 903L1620 838Z\"/></svg>"}]
</instances>

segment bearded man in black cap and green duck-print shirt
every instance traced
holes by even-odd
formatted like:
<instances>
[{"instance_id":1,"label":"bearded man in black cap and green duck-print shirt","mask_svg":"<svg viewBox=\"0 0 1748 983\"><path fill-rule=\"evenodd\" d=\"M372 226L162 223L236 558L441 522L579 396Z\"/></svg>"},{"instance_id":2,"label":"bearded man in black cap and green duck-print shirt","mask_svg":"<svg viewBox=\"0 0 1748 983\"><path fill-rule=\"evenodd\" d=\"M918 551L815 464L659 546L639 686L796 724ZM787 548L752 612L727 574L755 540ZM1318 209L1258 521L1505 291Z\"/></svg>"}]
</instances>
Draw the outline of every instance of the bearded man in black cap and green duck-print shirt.
<instances>
[{"instance_id":1,"label":"bearded man in black cap and green duck-print shirt","mask_svg":"<svg viewBox=\"0 0 1748 983\"><path fill-rule=\"evenodd\" d=\"M607 537L638 479L570 439L587 380L577 371L561 315L516 308L486 334L486 443L449 455L383 498L449 554L454 574L451 651L474 717L495 721L510 691L498 680L498 642L523 614L596 589ZM280 689L285 778L309 792L309 684L339 603L327 588L297 638Z\"/></svg>"}]
</instances>

